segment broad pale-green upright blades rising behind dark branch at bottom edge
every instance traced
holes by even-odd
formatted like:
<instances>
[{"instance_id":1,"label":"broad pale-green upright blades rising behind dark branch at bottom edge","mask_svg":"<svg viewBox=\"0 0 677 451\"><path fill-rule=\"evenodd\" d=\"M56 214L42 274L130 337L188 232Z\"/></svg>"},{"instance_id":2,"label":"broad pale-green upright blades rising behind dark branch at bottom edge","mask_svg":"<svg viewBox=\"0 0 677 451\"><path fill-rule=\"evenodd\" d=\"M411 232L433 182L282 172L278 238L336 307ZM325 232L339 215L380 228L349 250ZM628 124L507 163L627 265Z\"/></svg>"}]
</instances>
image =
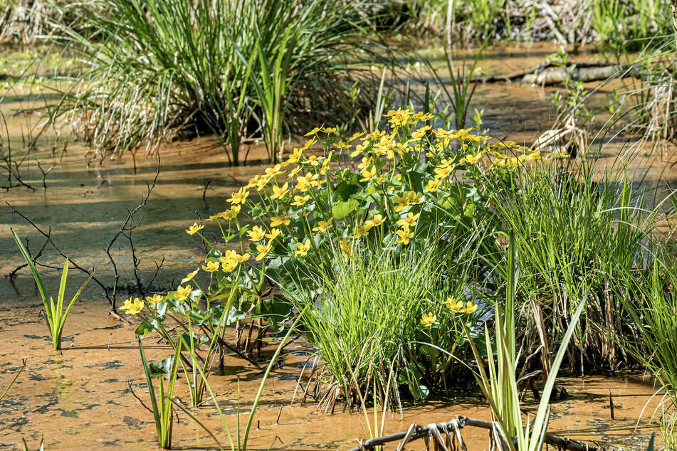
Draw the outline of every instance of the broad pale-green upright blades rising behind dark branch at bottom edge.
<instances>
[{"instance_id":1,"label":"broad pale-green upright blades rising behind dark branch at bottom edge","mask_svg":"<svg viewBox=\"0 0 677 451\"><path fill-rule=\"evenodd\" d=\"M533 420L527 418L524 423L522 410L520 407L520 390L518 389L518 353L515 346L516 336L518 334L517 324L515 322L515 311L518 306L515 302L515 293L518 290L518 259L517 241L510 238L508 245L508 259L505 268L506 278L506 297L505 306L501 306L497 300L494 302L494 336L495 336L495 359L491 346L488 324L485 323L485 341L488 355L488 370L484 368L483 354L480 353L475 344L475 339L463 324L466 336L471 342L473 354L478 364L479 376L473 372L478 381L484 396L486 397L493 420L500 425L500 430L493 431L495 439L500 442L502 449L513 451L540 451L543 446L545 433L547 432L547 423L550 418L550 394L555 386L555 378L560 369L560 364L567 352L567 345L577 327L578 319L583 311L586 297L578 301L572 317L567 327L560 349L557 351L552 366L548 371L545 386L542 389L541 398L538 403L537 412Z\"/></svg>"}]
</instances>

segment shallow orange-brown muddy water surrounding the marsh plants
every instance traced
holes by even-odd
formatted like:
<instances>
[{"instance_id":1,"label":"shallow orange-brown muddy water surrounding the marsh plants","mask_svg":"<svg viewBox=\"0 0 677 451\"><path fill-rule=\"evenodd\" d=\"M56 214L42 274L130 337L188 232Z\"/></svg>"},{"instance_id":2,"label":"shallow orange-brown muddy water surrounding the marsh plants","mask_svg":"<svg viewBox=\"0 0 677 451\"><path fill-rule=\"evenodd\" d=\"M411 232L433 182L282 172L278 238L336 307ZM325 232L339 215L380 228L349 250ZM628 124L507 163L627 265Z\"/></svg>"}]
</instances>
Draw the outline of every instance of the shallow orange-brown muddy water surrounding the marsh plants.
<instances>
[{"instance_id":1,"label":"shallow orange-brown muddy water surrounding the marsh plants","mask_svg":"<svg viewBox=\"0 0 677 451\"><path fill-rule=\"evenodd\" d=\"M554 46L489 49L480 67L486 73L509 72L540 63L552 51L555 51ZM555 109L550 105L550 94L556 89L525 87L518 83L481 85L471 109L485 110L485 126L494 136L529 143L554 120ZM602 90L595 97L600 109L605 105L610 89ZM17 92L0 105L0 112L8 115L32 100L29 93ZM8 120L11 144L17 154L23 150L22 137L26 137L31 124L39 120L36 115L16 115ZM601 116L599 121L603 122L604 117ZM152 184L157 161L139 152L135 161L127 155L120 162L85 164L88 161L86 149L71 143L67 152L62 153L58 147L52 153L54 139L55 134L47 132L38 141L37 150L21 166L24 181L36 191L24 187L0 190L0 198L9 201L43 230L51 226L51 237L63 253L78 265L95 267L101 280L110 281L113 270L105 248L125 221L127 209L135 208L147 193L147 184ZM621 141L609 147L609 161L629 145ZM137 256L142 259L140 277L147 282L154 274L155 262L164 258L155 285L167 287L194 269L204 255L199 240L184 233L184 228L199 221L200 217L223 210L224 199L262 168L256 165L228 167L223 149L209 137L171 144L160 154L157 184L147 206L136 216L135 223L140 220L141 223L133 236ZM250 158L262 157L262 147L253 145ZM53 166L45 179L46 189L43 189L43 177L36 159L43 169ZM639 154L633 160L632 175L637 181L658 180L663 164L661 155ZM4 180L0 179L2 184ZM26 221L1 203L0 275L8 274L21 264L10 228L21 237L29 238L33 251L43 243L41 236ZM216 230L206 228L205 233L207 238L216 239ZM41 262L63 265L53 248L46 248L43 255ZM112 255L120 269L121 285L132 282L129 243L116 243ZM53 291L58 274L50 270L44 270L44 273L48 289ZM76 285L83 282L84 276L71 271L71 279ZM81 299L66 324L64 349L57 353L48 344L46 326L38 316L41 303L28 272L21 270L13 279L0 278L0 343L4 344L0 349L0 388L16 373L21 359L28 359L26 370L6 398L0 401L0 447L17 448L22 437L28 440L31 448L36 448L37 442L44 437L49 450L108 446L146 450L154 447L152 415L131 391L133 389L140 398L147 399L133 338L134 326L119 322L108 314L110 307L95 284L90 284ZM150 359L162 359L169 354L152 339L147 339L145 346ZM308 351L302 344L296 350ZM313 405L289 404L296 378L307 359L308 356L303 354L287 356L283 365L273 371L254 422L252 443L255 447L345 449L355 445L356 438L369 437L362 415L319 415L314 413ZM229 357L227 365L226 376L214 376L213 384L216 393L222 393L219 395L221 405L229 408L229 426L234 430L237 381L240 381L240 396L246 412L258 389L262 369L233 357ZM642 408L654 393L651 381L642 381L638 377L590 377L562 382L570 397L553 405L550 425L553 433L597 440L606 445L636 447L656 430L648 421L656 399L646 408L644 419L635 428ZM614 398L614 420L610 419L609 390ZM185 398L183 381L179 391L179 396ZM280 418L276 421L278 414ZM489 418L480 399L437 401L406 408L402 418L388 415L384 433L406 430L414 422L427 424L448 420L456 414ZM198 415L225 445L226 434L214 411L202 408ZM179 418L174 435L176 447L204 449L214 445L186 415L179 414ZM246 415L241 415L241 421L246 421ZM486 431L468 429L463 436L471 450L484 450L488 446ZM422 443L416 443L409 449L422 447Z\"/></svg>"}]
</instances>

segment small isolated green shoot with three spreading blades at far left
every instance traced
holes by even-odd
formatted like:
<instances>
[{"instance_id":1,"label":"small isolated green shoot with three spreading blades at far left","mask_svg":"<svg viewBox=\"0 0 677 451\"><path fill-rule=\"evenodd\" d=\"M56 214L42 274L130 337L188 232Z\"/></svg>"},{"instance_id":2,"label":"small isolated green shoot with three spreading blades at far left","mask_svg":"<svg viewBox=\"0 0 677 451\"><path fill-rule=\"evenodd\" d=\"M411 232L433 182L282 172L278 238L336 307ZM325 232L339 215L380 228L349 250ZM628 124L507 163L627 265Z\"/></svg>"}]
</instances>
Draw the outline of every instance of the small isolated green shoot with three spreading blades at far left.
<instances>
[{"instance_id":1,"label":"small isolated green shoot with three spreading blades at far left","mask_svg":"<svg viewBox=\"0 0 677 451\"><path fill-rule=\"evenodd\" d=\"M49 299L47 299L45 286L43 285L40 275L38 274L36 266L33 264L31 255L28 255L28 250L26 250L26 248L23 246L23 243L21 243L21 240L19 240L19 237L16 235L14 230L12 230L11 233L12 236L14 237L16 245L19 247L19 250L21 250L21 255L23 255L23 259L26 260L26 264L28 265L28 267L31 268L31 272L33 273L33 278L36 281L38 291L40 292L40 296L42 298L42 302L45 307L45 321L47 322L47 327L49 329L49 334L52 339L52 344L54 345L54 349L58 351L61 349L61 333L63 332L63 326L65 324L65 320L68 318L70 309L73 307L73 304L75 304L75 301L78 300L78 297L80 297L80 293L83 292L89 281L92 280L94 274L92 273L92 275L90 275L88 280L86 280L85 283L83 283L78 292L76 292L75 295L73 296L73 299L70 299L70 302L68 303L66 309L63 310L65 284L68 278L68 258L65 260L65 263L63 265L58 297L56 299L56 302L54 302L54 299L51 296L49 297Z\"/></svg>"}]
</instances>

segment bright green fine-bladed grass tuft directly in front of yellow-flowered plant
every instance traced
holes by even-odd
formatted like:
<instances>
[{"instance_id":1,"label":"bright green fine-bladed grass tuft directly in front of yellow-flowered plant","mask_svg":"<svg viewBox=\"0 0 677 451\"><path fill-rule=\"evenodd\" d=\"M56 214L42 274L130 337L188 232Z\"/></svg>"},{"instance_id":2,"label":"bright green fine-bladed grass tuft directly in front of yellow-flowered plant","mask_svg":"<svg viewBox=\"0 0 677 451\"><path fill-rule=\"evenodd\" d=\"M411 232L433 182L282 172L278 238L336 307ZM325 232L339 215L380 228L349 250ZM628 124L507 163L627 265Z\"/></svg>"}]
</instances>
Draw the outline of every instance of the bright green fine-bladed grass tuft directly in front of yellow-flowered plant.
<instances>
[{"instance_id":1,"label":"bright green fine-bladed grass tuft directly in front of yellow-flowered plant","mask_svg":"<svg viewBox=\"0 0 677 451\"><path fill-rule=\"evenodd\" d=\"M386 405L391 380L415 399L447 388L458 370L451 355L466 354L461 324L475 330L483 313L469 288L478 236L467 238L458 250L435 240L401 252L355 245L352 258L335 255L332 270L305 289L282 287L305 312L300 324L333 376L327 390Z\"/></svg>"}]
</instances>

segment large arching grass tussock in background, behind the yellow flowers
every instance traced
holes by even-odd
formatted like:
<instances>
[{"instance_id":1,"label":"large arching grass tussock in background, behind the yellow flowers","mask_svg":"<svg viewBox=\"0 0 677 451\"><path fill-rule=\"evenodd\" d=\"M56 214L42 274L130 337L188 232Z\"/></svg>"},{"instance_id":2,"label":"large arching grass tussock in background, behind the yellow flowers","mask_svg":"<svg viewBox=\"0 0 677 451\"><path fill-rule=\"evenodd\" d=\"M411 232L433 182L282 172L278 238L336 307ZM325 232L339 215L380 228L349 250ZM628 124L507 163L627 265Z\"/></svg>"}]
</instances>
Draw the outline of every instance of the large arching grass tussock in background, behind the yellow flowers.
<instances>
[{"instance_id":1,"label":"large arching grass tussock in background, behind the yellow flowers","mask_svg":"<svg viewBox=\"0 0 677 451\"><path fill-rule=\"evenodd\" d=\"M102 156L197 132L229 144L233 164L241 139L263 137L274 160L283 134L309 111L321 120L316 105L347 97L360 78L346 55L366 49L364 33L340 2L93 3L78 11L95 36L63 31L84 69L50 117L68 120Z\"/></svg>"}]
</instances>

